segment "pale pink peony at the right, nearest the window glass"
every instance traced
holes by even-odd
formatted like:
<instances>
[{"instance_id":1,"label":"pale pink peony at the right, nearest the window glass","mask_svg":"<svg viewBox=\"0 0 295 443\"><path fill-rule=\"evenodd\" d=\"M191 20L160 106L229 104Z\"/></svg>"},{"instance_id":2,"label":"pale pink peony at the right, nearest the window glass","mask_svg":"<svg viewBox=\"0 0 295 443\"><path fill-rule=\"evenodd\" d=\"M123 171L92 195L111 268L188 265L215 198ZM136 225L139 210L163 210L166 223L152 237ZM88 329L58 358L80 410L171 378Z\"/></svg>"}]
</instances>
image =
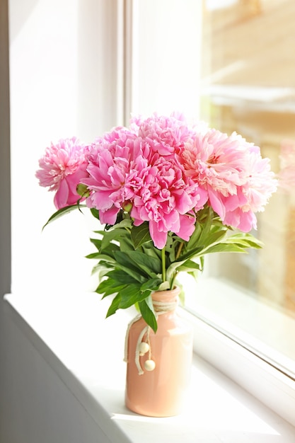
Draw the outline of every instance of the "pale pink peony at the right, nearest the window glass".
<instances>
[{"instance_id":1,"label":"pale pink peony at the right, nearest the window glass","mask_svg":"<svg viewBox=\"0 0 295 443\"><path fill-rule=\"evenodd\" d=\"M207 190L209 204L224 224L248 232L277 188L268 159L240 135L217 130L197 134L181 154L187 176Z\"/></svg>"}]
</instances>

